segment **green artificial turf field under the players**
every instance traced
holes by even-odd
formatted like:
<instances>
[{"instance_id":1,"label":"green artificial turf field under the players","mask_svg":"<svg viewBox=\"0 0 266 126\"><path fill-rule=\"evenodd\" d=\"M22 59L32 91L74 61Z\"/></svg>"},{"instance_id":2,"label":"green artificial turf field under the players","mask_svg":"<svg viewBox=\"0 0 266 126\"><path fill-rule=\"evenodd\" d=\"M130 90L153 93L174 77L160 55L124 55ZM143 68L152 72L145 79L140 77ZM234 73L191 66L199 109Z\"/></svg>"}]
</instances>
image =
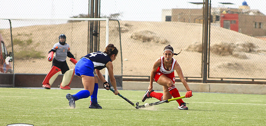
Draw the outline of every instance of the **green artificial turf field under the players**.
<instances>
[{"instance_id":1,"label":"green artificial turf field under the players","mask_svg":"<svg viewBox=\"0 0 266 126\"><path fill-rule=\"evenodd\" d=\"M193 92L189 110L179 110L176 101L136 109L118 95L98 90L103 109L89 109L90 97L76 101L71 109L67 93L80 89L0 88L0 125L25 123L32 125L265 125L266 95ZM132 102L157 102L155 98L141 102L145 91L119 90ZM180 92L184 96L185 92Z\"/></svg>"}]
</instances>

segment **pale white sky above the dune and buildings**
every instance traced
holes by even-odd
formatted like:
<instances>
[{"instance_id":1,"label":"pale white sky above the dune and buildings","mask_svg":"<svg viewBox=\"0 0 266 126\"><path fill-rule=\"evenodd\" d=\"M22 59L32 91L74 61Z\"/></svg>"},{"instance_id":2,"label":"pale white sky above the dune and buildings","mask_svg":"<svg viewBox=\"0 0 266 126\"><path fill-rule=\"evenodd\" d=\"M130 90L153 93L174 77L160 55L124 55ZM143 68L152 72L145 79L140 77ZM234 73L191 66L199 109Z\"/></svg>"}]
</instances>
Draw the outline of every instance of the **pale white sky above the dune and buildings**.
<instances>
[{"instance_id":1,"label":"pale white sky above the dune and buildings","mask_svg":"<svg viewBox=\"0 0 266 126\"><path fill-rule=\"evenodd\" d=\"M69 18L88 14L89 0L0 0L0 17ZM120 13L120 20L161 21L162 9L201 8L203 0L101 0L102 15ZM212 7L238 8L244 0L212 0ZM231 2L223 5L218 2ZM250 9L266 14L266 0L246 0Z\"/></svg>"}]
</instances>

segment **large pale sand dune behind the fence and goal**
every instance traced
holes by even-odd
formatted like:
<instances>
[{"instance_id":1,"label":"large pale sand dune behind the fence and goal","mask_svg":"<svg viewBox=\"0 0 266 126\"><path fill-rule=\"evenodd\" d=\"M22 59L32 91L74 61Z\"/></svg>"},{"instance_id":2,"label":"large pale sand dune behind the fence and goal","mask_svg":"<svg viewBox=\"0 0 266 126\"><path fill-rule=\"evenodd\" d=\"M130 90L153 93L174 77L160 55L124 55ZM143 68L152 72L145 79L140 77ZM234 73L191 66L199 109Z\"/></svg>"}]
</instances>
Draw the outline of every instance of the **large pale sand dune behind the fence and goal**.
<instances>
[{"instance_id":1,"label":"large pale sand dune behind the fence and goal","mask_svg":"<svg viewBox=\"0 0 266 126\"><path fill-rule=\"evenodd\" d=\"M123 68L121 68L121 58L119 56L113 62L116 70L115 74L121 74L121 69L123 69L123 75L149 76L153 62L162 56L163 48L170 44L175 53L182 49L182 52L174 58L181 65L184 76L201 76L202 53L196 49L190 49L196 45L195 43L202 43L201 24L140 21L120 21L120 24ZM116 22L110 22L109 43L115 44L120 50L117 27ZM53 44L58 42L58 35L61 33L67 35L67 43L70 44L71 52L75 57L82 57L87 53L87 22L85 21L59 25L28 26L12 30L16 38L22 40L32 38L33 43L28 48L43 52L45 57ZM10 45L9 29L2 29L0 32L4 38L7 38L6 44ZM22 35L18 36L18 34ZM211 51L210 77L266 78L265 40L217 26L211 26L210 36L211 48L214 48L214 45L223 47L223 45L226 45L223 43L235 46L252 43L255 46L252 51L238 50L237 53L234 53L245 55L245 59L233 54L222 56ZM100 51L103 51L104 48L105 23L101 23ZM14 46L14 50L20 49L20 46ZM224 51L228 51L226 49ZM10 47L9 50L11 50ZM74 68L71 62L68 61L68 64L70 68ZM15 66L15 72L17 73L47 73L50 70L51 62L48 62L46 58L24 59L15 60Z\"/></svg>"}]
</instances>

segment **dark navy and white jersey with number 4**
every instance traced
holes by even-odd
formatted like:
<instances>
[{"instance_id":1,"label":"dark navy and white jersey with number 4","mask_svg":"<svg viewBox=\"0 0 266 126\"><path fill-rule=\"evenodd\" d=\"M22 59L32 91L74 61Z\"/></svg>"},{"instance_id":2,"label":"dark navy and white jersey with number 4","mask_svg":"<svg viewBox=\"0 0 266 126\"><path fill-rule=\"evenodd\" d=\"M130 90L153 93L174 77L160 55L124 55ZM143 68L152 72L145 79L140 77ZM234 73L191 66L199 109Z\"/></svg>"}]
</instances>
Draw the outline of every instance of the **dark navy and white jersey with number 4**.
<instances>
[{"instance_id":1,"label":"dark navy and white jersey with number 4","mask_svg":"<svg viewBox=\"0 0 266 126\"><path fill-rule=\"evenodd\" d=\"M111 61L111 58L104 52L92 52L84 56L86 59L90 59L93 62L94 69L103 69L106 67L106 64Z\"/></svg>"}]
</instances>

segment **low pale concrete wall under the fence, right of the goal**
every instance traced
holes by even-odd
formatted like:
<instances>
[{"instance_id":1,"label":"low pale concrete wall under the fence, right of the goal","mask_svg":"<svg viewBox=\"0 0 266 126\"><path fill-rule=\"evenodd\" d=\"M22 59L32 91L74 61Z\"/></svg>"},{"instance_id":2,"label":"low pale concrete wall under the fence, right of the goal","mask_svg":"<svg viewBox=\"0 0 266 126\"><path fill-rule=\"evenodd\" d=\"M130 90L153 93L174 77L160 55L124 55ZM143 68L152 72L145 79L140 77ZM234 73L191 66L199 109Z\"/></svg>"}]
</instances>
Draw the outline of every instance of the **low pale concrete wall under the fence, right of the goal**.
<instances>
[{"instance_id":1,"label":"low pale concrete wall under the fence, right of the goal","mask_svg":"<svg viewBox=\"0 0 266 126\"><path fill-rule=\"evenodd\" d=\"M123 90L147 90L150 82L123 81ZM216 92L236 94L266 94L265 84L216 84L216 83L188 83L193 92ZM182 83L175 83L179 91L186 92ZM162 91L163 86L153 82L153 89Z\"/></svg>"}]
</instances>

